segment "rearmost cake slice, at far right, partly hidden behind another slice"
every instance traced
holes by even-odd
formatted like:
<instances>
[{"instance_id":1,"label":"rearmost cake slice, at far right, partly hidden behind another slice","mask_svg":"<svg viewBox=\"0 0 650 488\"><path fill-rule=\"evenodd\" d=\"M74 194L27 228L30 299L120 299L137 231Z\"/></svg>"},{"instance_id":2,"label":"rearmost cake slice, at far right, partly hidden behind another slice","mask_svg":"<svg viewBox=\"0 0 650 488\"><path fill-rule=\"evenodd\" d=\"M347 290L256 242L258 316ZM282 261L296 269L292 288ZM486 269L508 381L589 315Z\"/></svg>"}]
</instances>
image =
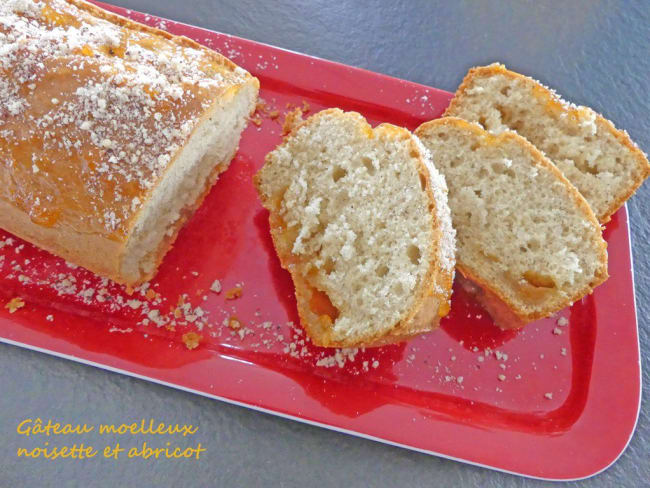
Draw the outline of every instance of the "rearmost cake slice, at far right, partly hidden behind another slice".
<instances>
[{"instance_id":1,"label":"rearmost cake slice, at far right, partly hidden behind another slice","mask_svg":"<svg viewBox=\"0 0 650 488\"><path fill-rule=\"evenodd\" d=\"M578 188L601 222L650 175L646 155L626 132L501 64L471 69L444 115L528 139Z\"/></svg>"}]
</instances>

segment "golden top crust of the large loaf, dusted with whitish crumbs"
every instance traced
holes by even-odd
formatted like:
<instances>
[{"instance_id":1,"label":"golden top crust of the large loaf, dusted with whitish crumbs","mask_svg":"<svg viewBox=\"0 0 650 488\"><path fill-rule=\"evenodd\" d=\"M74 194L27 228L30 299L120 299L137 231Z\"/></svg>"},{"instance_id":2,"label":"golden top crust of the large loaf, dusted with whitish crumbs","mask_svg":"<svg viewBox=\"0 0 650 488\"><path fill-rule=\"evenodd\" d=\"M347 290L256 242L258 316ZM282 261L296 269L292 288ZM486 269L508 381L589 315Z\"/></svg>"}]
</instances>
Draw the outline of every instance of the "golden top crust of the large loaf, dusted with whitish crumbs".
<instances>
[{"instance_id":1,"label":"golden top crust of the large loaf, dusted with whitish crumbs","mask_svg":"<svg viewBox=\"0 0 650 488\"><path fill-rule=\"evenodd\" d=\"M64 0L0 3L0 72L0 196L37 223L118 237L221 90L249 77Z\"/></svg>"}]
</instances>

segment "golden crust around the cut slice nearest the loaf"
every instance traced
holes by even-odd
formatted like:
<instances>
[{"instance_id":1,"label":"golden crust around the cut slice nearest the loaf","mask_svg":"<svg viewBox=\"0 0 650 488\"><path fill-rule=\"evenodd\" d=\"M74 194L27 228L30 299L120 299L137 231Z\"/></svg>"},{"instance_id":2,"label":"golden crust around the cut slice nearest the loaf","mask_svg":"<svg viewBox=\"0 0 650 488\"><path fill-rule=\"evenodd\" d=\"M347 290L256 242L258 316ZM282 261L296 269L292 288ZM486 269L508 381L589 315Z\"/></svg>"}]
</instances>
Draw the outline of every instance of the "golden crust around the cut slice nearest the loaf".
<instances>
[{"instance_id":1,"label":"golden crust around the cut slice nearest the loaf","mask_svg":"<svg viewBox=\"0 0 650 488\"><path fill-rule=\"evenodd\" d=\"M289 140L293 134L295 134L301 127L304 127L308 124L313 124L319 118L327 115L338 115L342 116L344 114L340 109L327 109L308 119L296 123L291 128L291 132L283 138L283 143ZM365 133L369 138L377 137L381 132L390 134L391 137L396 138L408 138L412 140L412 135L406 129L397 127L391 124L382 124L376 129L372 129L370 124L366 119L357 112L346 112L346 115L354 116L357 122L357 126L360 132ZM436 200L431 189L431 184L429 182L429 171L424 163L424 155L421 154L419 148L415 143L413 143L413 151L417 153L418 156L418 166L419 172L421 175L425 176L427 188L426 194L429 199L432 210L432 226L434 235L437 236L436 242L432 243L434 246L434 252L432 256L438 256L438 249L436 246L439 245L441 239L441 230L436 216ZM265 161L265 166L273 164L269 156L267 156ZM409 310L405 316L395 324L388 333L371 333L369 332L365 336L361 336L355 340L344 340L336 341L332 339L331 330L327 327L323 327L317 320L314 320L314 314L309 309L309 300L311 298L311 287L302 277L302 275L296 270L295 266L291 266L292 262L295 262L295 257L291 255L290 252L283 252L283 246L281 245L281 236L276 231L276 226L274 225L275 214L278 209L276 208L277 203L273 202L267 195L262 191L262 182L261 182L261 173L260 170L253 177L255 187L257 189L258 195L262 205L269 210L269 221L271 224L271 237L273 239L273 244L280 259L281 266L289 271L291 278L293 280L295 294L298 304L298 315L300 317L300 322L303 327L306 329L309 337L312 342L318 346L322 347L375 347L382 346L391 343L402 342L406 339L409 339L415 335L434 330L438 327L440 316L438 314L441 304L447 303L449 300L449 294L451 293L451 273L445 272L440 264L434 259L429 263L429 269L426 274L426 278L423 283L420 285L420 289L417 292L417 298L415 299L414 305ZM442 287L445 290L446 294L444 297L440 296L436 292L436 284Z\"/></svg>"}]
</instances>

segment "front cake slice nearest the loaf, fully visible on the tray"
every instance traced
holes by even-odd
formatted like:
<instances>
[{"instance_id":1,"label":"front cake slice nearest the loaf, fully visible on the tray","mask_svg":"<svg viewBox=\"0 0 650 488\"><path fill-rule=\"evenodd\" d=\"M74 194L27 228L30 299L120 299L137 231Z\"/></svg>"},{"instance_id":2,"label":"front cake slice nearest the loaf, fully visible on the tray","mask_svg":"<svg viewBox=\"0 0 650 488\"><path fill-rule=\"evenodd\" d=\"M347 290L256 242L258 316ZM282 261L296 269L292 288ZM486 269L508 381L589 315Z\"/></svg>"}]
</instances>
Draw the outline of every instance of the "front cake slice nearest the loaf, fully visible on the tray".
<instances>
[{"instance_id":1,"label":"front cake slice nearest the loaf, fully visible on the tray","mask_svg":"<svg viewBox=\"0 0 650 488\"><path fill-rule=\"evenodd\" d=\"M447 188L406 129L319 112L268 154L255 185L312 342L398 342L446 315L454 270Z\"/></svg>"}]
</instances>

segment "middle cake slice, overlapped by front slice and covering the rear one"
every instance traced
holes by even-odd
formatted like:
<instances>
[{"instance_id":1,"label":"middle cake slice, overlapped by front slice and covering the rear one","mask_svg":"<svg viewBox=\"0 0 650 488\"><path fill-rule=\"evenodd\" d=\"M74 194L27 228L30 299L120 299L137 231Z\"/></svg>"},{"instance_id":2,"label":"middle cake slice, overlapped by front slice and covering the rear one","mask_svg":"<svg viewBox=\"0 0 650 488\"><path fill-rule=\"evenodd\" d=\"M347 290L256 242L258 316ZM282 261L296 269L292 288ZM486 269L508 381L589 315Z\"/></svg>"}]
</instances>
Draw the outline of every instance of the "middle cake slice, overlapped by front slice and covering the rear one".
<instances>
[{"instance_id":1,"label":"middle cake slice, overlapped by front slice and covering the rear one","mask_svg":"<svg viewBox=\"0 0 650 488\"><path fill-rule=\"evenodd\" d=\"M518 328L582 298L607 278L593 211L523 137L455 117L415 134L449 185L458 270L502 328Z\"/></svg>"}]
</instances>

